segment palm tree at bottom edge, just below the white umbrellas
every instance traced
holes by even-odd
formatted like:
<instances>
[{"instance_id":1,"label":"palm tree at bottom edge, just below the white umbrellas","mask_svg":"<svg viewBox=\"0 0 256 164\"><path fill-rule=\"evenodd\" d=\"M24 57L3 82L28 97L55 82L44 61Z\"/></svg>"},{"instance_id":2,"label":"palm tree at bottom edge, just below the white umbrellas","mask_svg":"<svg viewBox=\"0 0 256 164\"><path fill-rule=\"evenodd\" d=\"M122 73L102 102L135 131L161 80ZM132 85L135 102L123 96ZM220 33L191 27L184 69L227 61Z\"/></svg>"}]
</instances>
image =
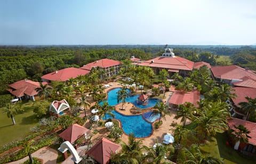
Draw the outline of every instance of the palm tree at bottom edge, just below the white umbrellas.
<instances>
[{"instance_id":1,"label":"palm tree at bottom edge, just below the white umbrellas","mask_svg":"<svg viewBox=\"0 0 256 164\"><path fill-rule=\"evenodd\" d=\"M165 163L166 161L166 154L167 152L174 152L174 147L172 145L162 145L159 144L156 141L156 147L146 147L144 146L144 149L146 149L146 157L145 157L145 163Z\"/></svg>"}]
</instances>

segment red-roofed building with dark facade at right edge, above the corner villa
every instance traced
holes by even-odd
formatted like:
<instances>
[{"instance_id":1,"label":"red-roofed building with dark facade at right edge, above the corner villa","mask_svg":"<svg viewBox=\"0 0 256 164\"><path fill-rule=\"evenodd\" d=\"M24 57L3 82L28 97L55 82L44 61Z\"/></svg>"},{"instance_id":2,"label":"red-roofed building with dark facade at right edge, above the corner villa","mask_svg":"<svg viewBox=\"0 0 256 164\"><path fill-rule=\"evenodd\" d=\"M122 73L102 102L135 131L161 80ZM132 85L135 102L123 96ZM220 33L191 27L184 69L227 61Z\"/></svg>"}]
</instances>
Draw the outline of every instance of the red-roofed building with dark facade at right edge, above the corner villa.
<instances>
[{"instance_id":1,"label":"red-roofed building with dark facade at right edge, above the corner villa","mask_svg":"<svg viewBox=\"0 0 256 164\"><path fill-rule=\"evenodd\" d=\"M238 105L239 102L247 102L245 99L246 96L251 97L252 99L256 99L256 88L249 87L233 87L234 92L236 94L235 98L231 98L227 100L227 103L230 105L230 113L232 117L239 119L246 119L246 113L239 110L241 106Z\"/></svg>"}]
</instances>

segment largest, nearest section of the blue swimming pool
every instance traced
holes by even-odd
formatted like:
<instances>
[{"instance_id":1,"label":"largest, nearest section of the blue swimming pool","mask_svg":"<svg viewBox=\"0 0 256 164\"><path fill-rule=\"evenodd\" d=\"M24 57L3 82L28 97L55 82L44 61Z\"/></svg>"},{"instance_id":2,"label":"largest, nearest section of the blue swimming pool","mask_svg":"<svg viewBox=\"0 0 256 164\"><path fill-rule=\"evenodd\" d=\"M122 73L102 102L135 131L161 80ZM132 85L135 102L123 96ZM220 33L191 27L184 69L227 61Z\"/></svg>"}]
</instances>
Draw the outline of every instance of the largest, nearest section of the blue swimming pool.
<instances>
[{"instance_id":1,"label":"largest, nearest section of the blue swimming pool","mask_svg":"<svg viewBox=\"0 0 256 164\"><path fill-rule=\"evenodd\" d=\"M111 112L115 114L115 119L121 122L125 134L129 135L130 133L133 133L135 137L141 138L148 137L152 133L152 125L149 122L145 121L142 118L141 114L135 116L124 116L123 114L116 111ZM106 116L107 119L112 118L108 114L106 114Z\"/></svg>"}]
</instances>

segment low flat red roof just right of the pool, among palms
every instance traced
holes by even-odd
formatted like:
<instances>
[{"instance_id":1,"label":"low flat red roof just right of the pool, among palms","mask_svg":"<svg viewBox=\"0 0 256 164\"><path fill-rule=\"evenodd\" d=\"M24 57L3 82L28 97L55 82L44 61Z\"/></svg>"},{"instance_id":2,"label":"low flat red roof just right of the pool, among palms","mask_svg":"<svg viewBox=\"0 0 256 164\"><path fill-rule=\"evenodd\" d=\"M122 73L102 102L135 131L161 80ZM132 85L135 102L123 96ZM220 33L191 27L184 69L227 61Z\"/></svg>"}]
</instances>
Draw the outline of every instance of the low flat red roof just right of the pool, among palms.
<instances>
[{"instance_id":1,"label":"low flat red roof just right of the pool, among palms","mask_svg":"<svg viewBox=\"0 0 256 164\"><path fill-rule=\"evenodd\" d=\"M184 104L185 102L193 103L195 106L197 106L197 102L200 100L200 92L198 90L194 90L191 92L183 93L181 91L175 91L171 99L169 100L169 103L171 104Z\"/></svg>"}]
</instances>

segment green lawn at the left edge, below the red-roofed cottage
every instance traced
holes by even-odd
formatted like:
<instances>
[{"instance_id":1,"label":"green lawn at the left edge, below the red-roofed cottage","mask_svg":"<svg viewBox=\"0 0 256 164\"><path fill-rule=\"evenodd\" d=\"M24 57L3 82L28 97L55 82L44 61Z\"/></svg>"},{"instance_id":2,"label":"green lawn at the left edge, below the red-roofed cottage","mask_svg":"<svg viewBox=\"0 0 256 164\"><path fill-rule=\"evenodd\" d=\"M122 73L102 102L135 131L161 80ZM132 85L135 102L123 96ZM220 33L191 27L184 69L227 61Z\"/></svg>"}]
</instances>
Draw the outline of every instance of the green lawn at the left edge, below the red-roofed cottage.
<instances>
[{"instance_id":1,"label":"green lawn at the left edge, below the red-roofed cottage","mask_svg":"<svg viewBox=\"0 0 256 164\"><path fill-rule=\"evenodd\" d=\"M38 123L31 104L25 104L23 109L25 112L14 116L16 125L13 125L12 119L7 118L6 113L0 110L0 146L22 138L30 132L30 127L34 127Z\"/></svg>"}]
</instances>

